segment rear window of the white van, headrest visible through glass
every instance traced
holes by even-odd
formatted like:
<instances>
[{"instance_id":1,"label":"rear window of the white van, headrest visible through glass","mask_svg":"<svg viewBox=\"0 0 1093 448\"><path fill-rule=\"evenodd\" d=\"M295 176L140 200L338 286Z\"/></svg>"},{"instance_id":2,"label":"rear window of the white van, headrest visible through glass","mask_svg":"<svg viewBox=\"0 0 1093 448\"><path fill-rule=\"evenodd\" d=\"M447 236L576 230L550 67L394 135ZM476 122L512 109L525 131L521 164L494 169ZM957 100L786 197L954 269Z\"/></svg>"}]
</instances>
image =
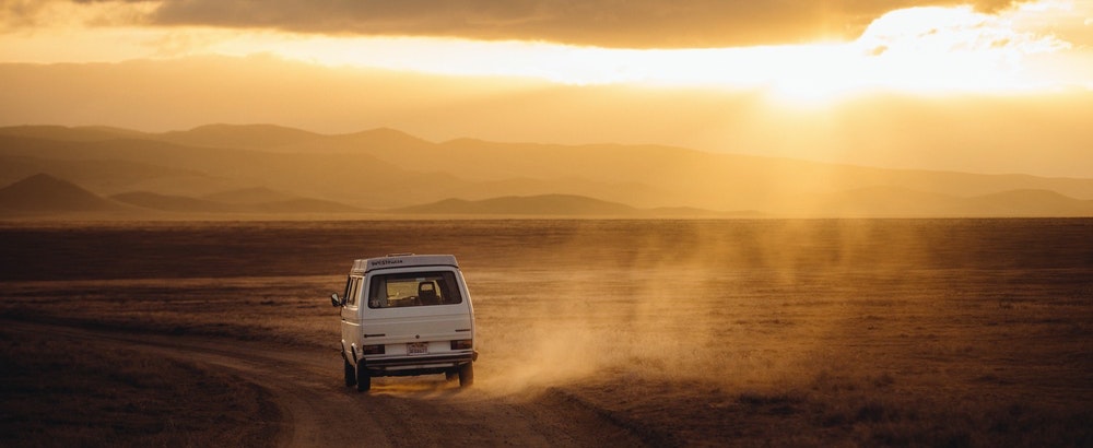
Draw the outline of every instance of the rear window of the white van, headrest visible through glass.
<instances>
[{"instance_id":1,"label":"rear window of the white van, headrest visible through glass","mask_svg":"<svg viewBox=\"0 0 1093 448\"><path fill-rule=\"evenodd\" d=\"M368 287L368 308L451 305L462 303L456 274L442 272L406 272L379 274Z\"/></svg>"}]
</instances>

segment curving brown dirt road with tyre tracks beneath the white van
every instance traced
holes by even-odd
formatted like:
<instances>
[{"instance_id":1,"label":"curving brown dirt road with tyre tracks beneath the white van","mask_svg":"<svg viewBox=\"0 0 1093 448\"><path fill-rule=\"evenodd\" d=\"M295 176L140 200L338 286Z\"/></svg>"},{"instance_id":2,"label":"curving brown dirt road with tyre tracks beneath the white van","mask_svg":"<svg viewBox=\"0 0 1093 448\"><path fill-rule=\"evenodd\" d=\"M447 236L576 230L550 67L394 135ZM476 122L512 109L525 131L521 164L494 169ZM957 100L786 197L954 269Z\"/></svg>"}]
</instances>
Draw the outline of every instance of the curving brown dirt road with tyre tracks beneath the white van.
<instances>
[{"instance_id":1,"label":"curving brown dirt road with tyre tracks beneath the white van","mask_svg":"<svg viewBox=\"0 0 1093 448\"><path fill-rule=\"evenodd\" d=\"M131 334L5 321L16 332L94 340L202 368L230 370L272 394L283 421L280 446L646 446L666 440L622 427L554 389L520 396L460 389L443 376L384 378L373 391L342 386L333 350L308 351L215 338ZM259 416L256 416L259 417Z\"/></svg>"}]
</instances>

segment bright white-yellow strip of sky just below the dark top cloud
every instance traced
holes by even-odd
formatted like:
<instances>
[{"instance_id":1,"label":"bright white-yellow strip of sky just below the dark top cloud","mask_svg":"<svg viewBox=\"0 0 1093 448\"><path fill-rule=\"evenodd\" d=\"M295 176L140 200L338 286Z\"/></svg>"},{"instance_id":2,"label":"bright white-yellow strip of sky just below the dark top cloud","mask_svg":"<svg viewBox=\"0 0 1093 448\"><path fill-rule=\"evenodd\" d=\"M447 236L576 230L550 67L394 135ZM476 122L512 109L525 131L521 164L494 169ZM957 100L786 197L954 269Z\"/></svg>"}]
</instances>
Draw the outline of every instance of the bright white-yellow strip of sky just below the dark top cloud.
<instances>
[{"instance_id":1,"label":"bright white-yellow strip of sky just below the dark top cloud","mask_svg":"<svg viewBox=\"0 0 1093 448\"><path fill-rule=\"evenodd\" d=\"M1093 87L1088 63L1068 63L1089 50L1086 43L1055 34L1068 19L1089 27L1089 20L1082 20L1089 11L1078 9L1086 4L1074 2L1025 3L997 15L969 5L908 8L878 17L850 42L702 49L102 24L119 11L138 15L151 4L94 3L79 7L87 10L82 17L58 13L68 19L8 33L0 58L48 63L269 54L330 67L531 76L568 84L772 87L806 97L860 89L929 93ZM1073 37L1090 34L1083 33Z\"/></svg>"}]
</instances>

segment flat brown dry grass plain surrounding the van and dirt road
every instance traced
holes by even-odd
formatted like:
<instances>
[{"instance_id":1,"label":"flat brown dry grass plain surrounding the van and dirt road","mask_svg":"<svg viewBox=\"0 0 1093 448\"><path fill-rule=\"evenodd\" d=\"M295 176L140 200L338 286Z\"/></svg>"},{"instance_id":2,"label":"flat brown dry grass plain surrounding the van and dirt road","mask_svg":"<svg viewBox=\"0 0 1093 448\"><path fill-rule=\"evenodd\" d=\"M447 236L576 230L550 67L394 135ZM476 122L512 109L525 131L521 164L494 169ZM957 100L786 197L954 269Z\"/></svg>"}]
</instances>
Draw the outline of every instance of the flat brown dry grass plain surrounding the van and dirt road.
<instances>
[{"instance_id":1,"label":"flat brown dry grass plain surrounding the van and dirt road","mask_svg":"<svg viewBox=\"0 0 1093 448\"><path fill-rule=\"evenodd\" d=\"M349 400L584 410L654 446L1091 446L1091 235L1093 220L9 223L0 445L284 445L269 386L125 341L314 352L337 390L327 297L351 260L438 252L474 299L475 387L384 378Z\"/></svg>"}]
</instances>

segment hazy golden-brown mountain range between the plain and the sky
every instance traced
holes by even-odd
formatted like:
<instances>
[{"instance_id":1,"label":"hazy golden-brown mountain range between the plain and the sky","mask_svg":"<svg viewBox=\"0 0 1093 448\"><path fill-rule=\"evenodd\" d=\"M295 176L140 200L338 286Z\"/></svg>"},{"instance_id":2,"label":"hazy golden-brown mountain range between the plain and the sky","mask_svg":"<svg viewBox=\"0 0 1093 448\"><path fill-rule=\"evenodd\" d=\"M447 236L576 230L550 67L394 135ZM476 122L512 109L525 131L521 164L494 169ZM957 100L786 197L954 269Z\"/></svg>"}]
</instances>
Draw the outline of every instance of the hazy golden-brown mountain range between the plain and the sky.
<instances>
[{"instance_id":1,"label":"hazy golden-brown mountain range between the plain and the sky","mask_svg":"<svg viewBox=\"0 0 1093 448\"><path fill-rule=\"evenodd\" d=\"M0 216L1093 216L1093 179L270 125L0 128Z\"/></svg>"}]
</instances>

